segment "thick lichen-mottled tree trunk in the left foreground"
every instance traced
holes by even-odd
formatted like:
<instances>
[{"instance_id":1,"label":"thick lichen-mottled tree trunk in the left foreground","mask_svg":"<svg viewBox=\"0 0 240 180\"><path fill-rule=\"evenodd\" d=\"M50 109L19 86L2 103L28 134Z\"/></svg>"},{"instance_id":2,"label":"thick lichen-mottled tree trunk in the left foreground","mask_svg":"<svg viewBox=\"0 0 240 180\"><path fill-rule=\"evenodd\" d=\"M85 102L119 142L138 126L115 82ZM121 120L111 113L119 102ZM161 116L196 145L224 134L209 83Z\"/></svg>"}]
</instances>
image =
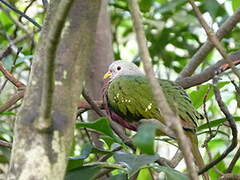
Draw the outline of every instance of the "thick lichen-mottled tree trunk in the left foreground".
<instances>
[{"instance_id":1,"label":"thick lichen-mottled tree trunk in the left foreground","mask_svg":"<svg viewBox=\"0 0 240 180\"><path fill-rule=\"evenodd\" d=\"M100 2L75 0L67 14L59 41L46 38L54 24L61 0L50 2L41 38L36 50L30 82L18 114L8 179L63 179L67 155L71 147L73 129L84 80L85 69L93 50ZM62 1L64 2L64 1ZM56 18L59 18L56 14ZM63 19L60 19L63 20ZM49 42L50 41L50 42ZM58 43L54 59L47 59L48 43ZM51 52L50 52L51 53ZM52 52L54 53L54 52ZM37 127L46 121L41 104L46 84L47 61L53 61L53 92L50 127ZM49 63L49 62L48 62ZM47 100L47 103L49 101Z\"/></svg>"}]
</instances>

